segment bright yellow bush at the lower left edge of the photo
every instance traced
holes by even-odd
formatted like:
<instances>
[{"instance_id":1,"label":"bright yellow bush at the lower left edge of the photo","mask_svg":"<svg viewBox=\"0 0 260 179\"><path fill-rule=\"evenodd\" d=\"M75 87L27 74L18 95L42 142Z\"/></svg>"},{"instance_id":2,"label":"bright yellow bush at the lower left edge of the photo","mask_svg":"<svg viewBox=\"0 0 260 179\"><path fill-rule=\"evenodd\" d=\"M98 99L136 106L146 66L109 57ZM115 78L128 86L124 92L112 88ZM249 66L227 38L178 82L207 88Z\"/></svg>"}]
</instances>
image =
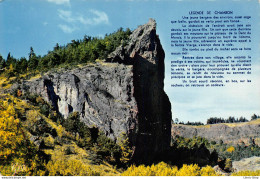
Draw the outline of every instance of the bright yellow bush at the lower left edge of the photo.
<instances>
[{"instance_id":1,"label":"bright yellow bush at the lower left edge of the photo","mask_svg":"<svg viewBox=\"0 0 260 179\"><path fill-rule=\"evenodd\" d=\"M38 155L27 141L26 131L18 118L28 105L11 95L0 95L0 173L2 175L41 175Z\"/></svg>"}]
</instances>

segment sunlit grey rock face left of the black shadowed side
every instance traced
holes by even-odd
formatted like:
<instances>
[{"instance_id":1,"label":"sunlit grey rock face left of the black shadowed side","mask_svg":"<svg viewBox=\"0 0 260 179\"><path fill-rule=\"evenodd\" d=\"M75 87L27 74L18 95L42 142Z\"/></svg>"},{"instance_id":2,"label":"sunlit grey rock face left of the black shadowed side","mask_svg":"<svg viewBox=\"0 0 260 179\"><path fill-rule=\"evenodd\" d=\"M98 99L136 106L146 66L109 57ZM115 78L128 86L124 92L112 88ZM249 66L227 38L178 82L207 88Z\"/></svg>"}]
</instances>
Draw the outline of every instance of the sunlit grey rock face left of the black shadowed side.
<instances>
[{"instance_id":1,"label":"sunlit grey rock face left of the black shadowed side","mask_svg":"<svg viewBox=\"0 0 260 179\"><path fill-rule=\"evenodd\" d=\"M112 139L129 132L136 106L131 66L95 64L51 73L24 85L29 93L40 94L65 118L77 111L82 121L98 127Z\"/></svg>"}]
</instances>

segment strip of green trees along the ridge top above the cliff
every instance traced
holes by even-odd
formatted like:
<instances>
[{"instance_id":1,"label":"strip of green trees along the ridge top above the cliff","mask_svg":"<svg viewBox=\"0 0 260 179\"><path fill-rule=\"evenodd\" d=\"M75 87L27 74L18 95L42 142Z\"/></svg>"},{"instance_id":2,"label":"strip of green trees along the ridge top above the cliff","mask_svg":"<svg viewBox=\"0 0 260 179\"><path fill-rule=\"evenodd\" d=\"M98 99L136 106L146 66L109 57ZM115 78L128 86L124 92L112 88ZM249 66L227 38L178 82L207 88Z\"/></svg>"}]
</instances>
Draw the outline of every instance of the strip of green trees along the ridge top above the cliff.
<instances>
[{"instance_id":1,"label":"strip of green trees along the ridge top above the cliff","mask_svg":"<svg viewBox=\"0 0 260 179\"><path fill-rule=\"evenodd\" d=\"M72 40L64 46L56 44L52 51L42 57L37 56L30 47L28 60L25 57L16 59L11 53L5 60L0 55L0 74L5 74L8 79L11 77L16 77L17 80L29 79L37 73L52 68L94 63L96 59L105 59L119 45L126 45L130 34L130 29L119 28L104 38L84 36L83 40Z\"/></svg>"}]
</instances>

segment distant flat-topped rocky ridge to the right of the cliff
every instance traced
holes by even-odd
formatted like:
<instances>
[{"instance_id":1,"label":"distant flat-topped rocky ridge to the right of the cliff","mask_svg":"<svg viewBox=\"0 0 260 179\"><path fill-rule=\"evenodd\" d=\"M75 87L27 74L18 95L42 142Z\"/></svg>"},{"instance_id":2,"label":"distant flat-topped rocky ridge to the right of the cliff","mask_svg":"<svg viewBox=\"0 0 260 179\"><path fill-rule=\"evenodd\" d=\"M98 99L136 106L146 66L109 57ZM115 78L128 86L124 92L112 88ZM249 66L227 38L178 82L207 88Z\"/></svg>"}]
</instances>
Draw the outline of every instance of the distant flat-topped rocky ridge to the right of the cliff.
<instances>
[{"instance_id":1,"label":"distant flat-topped rocky ridge to the right of the cliff","mask_svg":"<svg viewBox=\"0 0 260 179\"><path fill-rule=\"evenodd\" d=\"M255 144L260 145L260 119L243 123L221 123L208 124L201 126L189 126L182 124L173 124L172 137L176 135L185 138L193 136L204 137L210 141L220 141L224 143L238 144L244 142L249 144L252 138Z\"/></svg>"}]
</instances>

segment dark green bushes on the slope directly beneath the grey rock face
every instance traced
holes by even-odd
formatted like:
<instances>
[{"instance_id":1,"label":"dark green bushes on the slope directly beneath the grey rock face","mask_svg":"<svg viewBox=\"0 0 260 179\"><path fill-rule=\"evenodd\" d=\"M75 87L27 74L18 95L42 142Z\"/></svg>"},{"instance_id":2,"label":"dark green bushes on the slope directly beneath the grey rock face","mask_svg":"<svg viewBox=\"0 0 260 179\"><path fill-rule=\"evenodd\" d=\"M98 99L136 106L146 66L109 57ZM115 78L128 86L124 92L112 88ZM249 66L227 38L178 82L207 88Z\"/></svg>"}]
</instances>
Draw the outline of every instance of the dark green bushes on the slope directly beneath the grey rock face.
<instances>
[{"instance_id":1,"label":"dark green bushes on the slope directly beneath the grey rock face","mask_svg":"<svg viewBox=\"0 0 260 179\"><path fill-rule=\"evenodd\" d=\"M79 147L89 150L89 159L93 164L107 161L117 166L123 165L120 162L122 155L120 146L97 128L87 127L80 121L78 112L71 113L67 119L64 119L62 125L74 134Z\"/></svg>"}]
</instances>

